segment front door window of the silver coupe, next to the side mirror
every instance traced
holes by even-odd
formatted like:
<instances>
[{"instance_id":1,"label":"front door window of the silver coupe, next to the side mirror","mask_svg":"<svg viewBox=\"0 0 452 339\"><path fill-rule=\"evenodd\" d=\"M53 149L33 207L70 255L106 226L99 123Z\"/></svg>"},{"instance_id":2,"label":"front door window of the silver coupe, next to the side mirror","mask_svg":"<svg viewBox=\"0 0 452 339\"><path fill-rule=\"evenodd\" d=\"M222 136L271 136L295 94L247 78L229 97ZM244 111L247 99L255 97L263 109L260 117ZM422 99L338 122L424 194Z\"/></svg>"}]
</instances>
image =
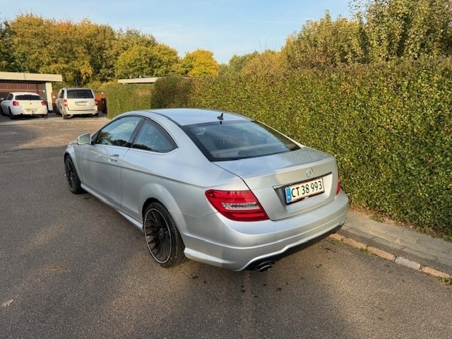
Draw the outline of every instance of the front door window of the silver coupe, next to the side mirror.
<instances>
[{"instance_id":1,"label":"front door window of the silver coupe, next to the side mirror","mask_svg":"<svg viewBox=\"0 0 452 339\"><path fill-rule=\"evenodd\" d=\"M140 117L124 117L113 121L104 127L98 134L95 143L101 145L114 145L130 147L130 140Z\"/></svg>"}]
</instances>

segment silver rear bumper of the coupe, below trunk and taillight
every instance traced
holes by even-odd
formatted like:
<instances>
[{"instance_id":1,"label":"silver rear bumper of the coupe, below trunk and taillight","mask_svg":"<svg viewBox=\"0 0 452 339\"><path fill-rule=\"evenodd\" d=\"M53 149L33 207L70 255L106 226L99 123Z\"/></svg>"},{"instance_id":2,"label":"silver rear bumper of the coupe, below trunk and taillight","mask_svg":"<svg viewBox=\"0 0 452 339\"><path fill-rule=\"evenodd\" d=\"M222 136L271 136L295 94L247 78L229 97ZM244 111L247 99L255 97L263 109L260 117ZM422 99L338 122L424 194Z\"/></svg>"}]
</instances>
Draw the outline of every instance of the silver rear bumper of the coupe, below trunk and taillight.
<instances>
[{"instance_id":1,"label":"silver rear bumper of the coupe, below trunk and taillight","mask_svg":"<svg viewBox=\"0 0 452 339\"><path fill-rule=\"evenodd\" d=\"M216 236L202 239L184 234L185 255L230 270L253 268L263 261L276 261L338 230L345 223L347 209L347 195L340 191L325 206L284 220L232 222L215 214L219 222L210 220L205 227L217 229Z\"/></svg>"}]
</instances>

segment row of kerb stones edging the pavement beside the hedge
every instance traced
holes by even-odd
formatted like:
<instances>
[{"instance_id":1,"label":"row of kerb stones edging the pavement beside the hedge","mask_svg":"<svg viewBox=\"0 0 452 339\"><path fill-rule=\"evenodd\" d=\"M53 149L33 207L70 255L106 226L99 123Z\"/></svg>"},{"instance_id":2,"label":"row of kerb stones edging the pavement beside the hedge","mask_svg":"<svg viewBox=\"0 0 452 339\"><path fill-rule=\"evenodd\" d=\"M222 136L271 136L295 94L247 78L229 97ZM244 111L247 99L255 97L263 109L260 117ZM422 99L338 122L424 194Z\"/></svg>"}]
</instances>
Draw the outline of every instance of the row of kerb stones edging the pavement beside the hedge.
<instances>
[{"instance_id":1,"label":"row of kerb stones edging the pavement beside the hedge","mask_svg":"<svg viewBox=\"0 0 452 339\"><path fill-rule=\"evenodd\" d=\"M422 273L432 275L436 278L452 279L452 275L449 275L448 273L444 273L441 270L436 270L436 268L432 268L429 266L423 266L422 264L417 263L415 261L411 261L407 258L404 258L403 256L396 256L387 251L377 249L374 246L368 246L367 244L364 244L363 242L357 242L355 239L352 239L350 237L345 237L338 233L331 234L329 237L331 239L335 239L338 242L343 242L343 243L345 243L349 246L355 247L357 249L367 250L371 254L379 256L380 258L386 259L388 261L393 261L393 262L397 263L398 265L412 268L413 270L419 270ZM376 239L374 239L374 240L376 240ZM403 246L401 246L401 247L403 248ZM413 253L413 254L415 254L415 253Z\"/></svg>"}]
</instances>

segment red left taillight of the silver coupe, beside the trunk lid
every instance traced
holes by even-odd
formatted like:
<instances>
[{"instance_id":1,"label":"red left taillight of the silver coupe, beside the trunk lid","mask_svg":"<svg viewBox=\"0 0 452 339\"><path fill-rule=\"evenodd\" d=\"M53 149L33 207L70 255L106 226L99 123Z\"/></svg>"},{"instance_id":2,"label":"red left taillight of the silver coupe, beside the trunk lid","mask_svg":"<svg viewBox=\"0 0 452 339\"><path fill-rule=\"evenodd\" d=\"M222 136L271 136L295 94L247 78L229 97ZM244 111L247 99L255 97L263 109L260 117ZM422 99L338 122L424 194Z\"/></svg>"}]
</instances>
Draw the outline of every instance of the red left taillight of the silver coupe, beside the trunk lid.
<instances>
[{"instance_id":1,"label":"red left taillight of the silver coupe, beside the trunk lid","mask_svg":"<svg viewBox=\"0 0 452 339\"><path fill-rule=\"evenodd\" d=\"M208 201L226 218L236 221L268 220L256 196L251 191L206 191Z\"/></svg>"}]
</instances>

